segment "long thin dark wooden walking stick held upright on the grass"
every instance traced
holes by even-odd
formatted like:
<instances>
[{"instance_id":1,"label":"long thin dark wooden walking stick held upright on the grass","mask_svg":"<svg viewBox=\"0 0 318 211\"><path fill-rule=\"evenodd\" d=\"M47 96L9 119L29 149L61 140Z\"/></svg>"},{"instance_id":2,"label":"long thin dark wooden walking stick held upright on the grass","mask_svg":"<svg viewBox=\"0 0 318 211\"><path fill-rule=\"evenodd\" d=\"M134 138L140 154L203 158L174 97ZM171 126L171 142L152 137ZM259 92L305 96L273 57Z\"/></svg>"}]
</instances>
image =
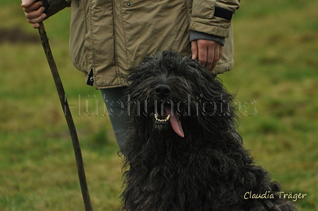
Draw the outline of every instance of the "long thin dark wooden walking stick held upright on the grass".
<instances>
[{"instance_id":1,"label":"long thin dark wooden walking stick held upright on the grass","mask_svg":"<svg viewBox=\"0 0 318 211\"><path fill-rule=\"evenodd\" d=\"M92 211L92 203L89 198L89 191L87 188L87 182L86 182L86 176L84 172L84 164L83 164L83 159L82 159L82 152L81 148L79 146L79 140L77 137L77 132L75 128L75 124L70 112L70 108L67 103L67 99L65 96L65 91L62 85L62 81L60 79L60 74L57 71L57 66L55 64L55 60L53 58L53 54L50 50L50 45L48 43L48 36L46 35L45 28L43 22L40 22L40 28L38 28L38 32L40 33L40 39L43 45L43 49L45 52L45 56L48 59L48 64L50 66L53 79L55 81L55 86L57 89L58 96L60 97L60 103L62 105L62 110L64 111L65 119L68 125L68 128L70 130L70 136L72 138L72 144L75 152L75 159L76 159L76 164L77 164L77 173L79 176L79 183L81 186L82 190L82 197L84 200L84 205L86 211Z\"/></svg>"}]
</instances>

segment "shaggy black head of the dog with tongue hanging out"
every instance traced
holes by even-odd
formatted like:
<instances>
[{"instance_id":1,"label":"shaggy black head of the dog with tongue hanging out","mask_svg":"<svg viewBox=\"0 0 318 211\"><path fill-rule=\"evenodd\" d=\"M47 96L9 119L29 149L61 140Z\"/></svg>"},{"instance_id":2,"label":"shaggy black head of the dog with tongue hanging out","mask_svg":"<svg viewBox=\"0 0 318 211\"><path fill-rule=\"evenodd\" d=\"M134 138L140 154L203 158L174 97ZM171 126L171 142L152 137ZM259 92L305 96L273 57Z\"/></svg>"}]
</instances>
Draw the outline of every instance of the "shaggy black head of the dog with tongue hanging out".
<instances>
[{"instance_id":1,"label":"shaggy black head of the dog with tongue hanging out","mask_svg":"<svg viewBox=\"0 0 318 211\"><path fill-rule=\"evenodd\" d=\"M126 89L131 127L155 135L216 134L234 116L231 95L212 72L174 51L131 69ZM143 129L141 129L143 128Z\"/></svg>"}]
</instances>

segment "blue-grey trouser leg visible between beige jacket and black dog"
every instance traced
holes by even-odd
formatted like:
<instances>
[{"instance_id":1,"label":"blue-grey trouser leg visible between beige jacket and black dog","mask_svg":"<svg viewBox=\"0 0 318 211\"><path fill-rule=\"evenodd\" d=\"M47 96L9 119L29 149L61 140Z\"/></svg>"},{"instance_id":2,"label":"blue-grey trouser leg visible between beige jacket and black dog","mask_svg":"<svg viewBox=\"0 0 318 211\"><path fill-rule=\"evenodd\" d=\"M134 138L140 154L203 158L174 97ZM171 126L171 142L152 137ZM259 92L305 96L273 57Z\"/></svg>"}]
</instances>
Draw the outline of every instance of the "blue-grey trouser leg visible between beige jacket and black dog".
<instances>
[{"instance_id":1,"label":"blue-grey trouser leg visible between beige jacket and black dog","mask_svg":"<svg viewBox=\"0 0 318 211\"><path fill-rule=\"evenodd\" d=\"M126 105L122 101L125 87L101 89L104 103L109 113L119 148L124 147L124 138L127 132Z\"/></svg>"}]
</instances>

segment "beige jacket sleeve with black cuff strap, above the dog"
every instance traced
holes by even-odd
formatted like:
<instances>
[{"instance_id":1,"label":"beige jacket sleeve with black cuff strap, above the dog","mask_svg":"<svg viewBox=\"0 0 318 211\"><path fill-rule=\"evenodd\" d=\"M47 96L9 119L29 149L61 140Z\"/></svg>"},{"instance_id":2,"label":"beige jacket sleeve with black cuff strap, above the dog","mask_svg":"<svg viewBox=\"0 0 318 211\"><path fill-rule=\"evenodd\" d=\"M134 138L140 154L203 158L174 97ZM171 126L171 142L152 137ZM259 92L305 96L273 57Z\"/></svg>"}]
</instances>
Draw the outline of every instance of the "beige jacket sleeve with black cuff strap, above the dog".
<instances>
[{"instance_id":1,"label":"beige jacket sleeve with black cuff strap, above the dog","mask_svg":"<svg viewBox=\"0 0 318 211\"><path fill-rule=\"evenodd\" d=\"M194 0L190 30L229 37L231 18L241 0Z\"/></svg>"}]
</instances>

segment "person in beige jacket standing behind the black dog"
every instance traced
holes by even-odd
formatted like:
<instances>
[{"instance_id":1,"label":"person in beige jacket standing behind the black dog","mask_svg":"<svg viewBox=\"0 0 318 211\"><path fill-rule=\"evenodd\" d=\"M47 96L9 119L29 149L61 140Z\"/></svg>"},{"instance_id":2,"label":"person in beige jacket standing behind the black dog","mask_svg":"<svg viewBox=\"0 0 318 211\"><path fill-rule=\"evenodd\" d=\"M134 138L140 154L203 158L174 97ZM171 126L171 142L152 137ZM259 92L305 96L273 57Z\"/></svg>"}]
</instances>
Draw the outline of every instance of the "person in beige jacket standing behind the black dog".
<instances>
[{"instance_id":1,"label":"person in beige jacket standing behind the black dog","mask_svg":"<svg viewBox=\"0 0 318 211\"><path fill-rule=\"evenodd\" d=\"M71 7L72 64L102 91L119 147L126 133L120 101L126 75L145 57L175 50L214 74L234 66L231 19L240 0L48 0L46 13L41 1L21 1L33 28Z\"/></svg>"}]
</instances>

